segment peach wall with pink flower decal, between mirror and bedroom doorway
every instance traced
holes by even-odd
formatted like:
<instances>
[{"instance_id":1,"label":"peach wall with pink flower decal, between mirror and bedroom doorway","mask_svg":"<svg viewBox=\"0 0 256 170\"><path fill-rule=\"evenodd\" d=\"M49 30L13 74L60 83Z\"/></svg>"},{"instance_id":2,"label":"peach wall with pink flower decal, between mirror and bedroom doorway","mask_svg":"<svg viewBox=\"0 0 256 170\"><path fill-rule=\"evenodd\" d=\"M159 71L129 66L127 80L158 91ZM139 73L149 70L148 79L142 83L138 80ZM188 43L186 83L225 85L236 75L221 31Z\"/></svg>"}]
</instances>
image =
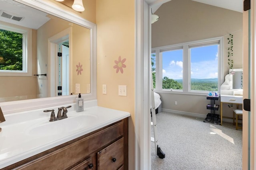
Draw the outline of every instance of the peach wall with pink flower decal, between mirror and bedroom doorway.
<instances>
[{"instance_id":1,"label":"peach wall with pink flower decal, between mirror and bedroom doorway","mask_svg":"<svg viewBox=\"0 0 256 170\"><path fill-rule=\"evenodd\" d=\"M129 169L134 169L134 1L96 0L97 99L98 106L128 111ZM126 59L123 73L113 68L118 57ZM102 84L107 94L102 94ZM118 96L118 85L127 86L127 96Z\"/></svg>"}]
</instances>

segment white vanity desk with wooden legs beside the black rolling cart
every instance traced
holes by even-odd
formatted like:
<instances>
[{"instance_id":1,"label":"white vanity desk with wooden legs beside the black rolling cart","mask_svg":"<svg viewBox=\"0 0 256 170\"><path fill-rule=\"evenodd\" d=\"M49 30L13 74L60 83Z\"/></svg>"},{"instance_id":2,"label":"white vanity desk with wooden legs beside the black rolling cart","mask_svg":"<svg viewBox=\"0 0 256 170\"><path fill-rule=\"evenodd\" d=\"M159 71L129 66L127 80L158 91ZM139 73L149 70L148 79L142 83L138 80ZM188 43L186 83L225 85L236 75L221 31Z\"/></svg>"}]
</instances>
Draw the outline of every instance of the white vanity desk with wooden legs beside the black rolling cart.
<instances>
[{"instance_id":1,"label":"white vanity desk with wooden legs beside the black rolling cart","mask_svg":"<svg viewBox=\"0 0 256 170\"><path fill-rule=\"evenodd\" d=\"M222 95L220 96L220 125L222 125L222 104L228 103L228 104L236 104L238 105L243 104L243 96L233 96L233 95Z\"/></svg>"}]
</instances>

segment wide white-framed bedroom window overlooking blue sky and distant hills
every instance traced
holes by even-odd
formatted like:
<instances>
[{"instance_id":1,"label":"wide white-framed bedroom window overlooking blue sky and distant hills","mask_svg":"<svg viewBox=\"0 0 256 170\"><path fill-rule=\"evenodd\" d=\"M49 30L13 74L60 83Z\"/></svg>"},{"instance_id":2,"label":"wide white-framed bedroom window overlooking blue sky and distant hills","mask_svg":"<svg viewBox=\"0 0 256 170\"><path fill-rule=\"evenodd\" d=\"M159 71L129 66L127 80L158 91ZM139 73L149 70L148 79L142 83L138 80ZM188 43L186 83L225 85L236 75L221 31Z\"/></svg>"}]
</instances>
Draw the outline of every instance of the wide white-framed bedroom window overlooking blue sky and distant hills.
<instances>
[{"instance_id":1,"label":"wide white-framed bedroom window overlooking blue sky and distant hills","mask_svg":"<svg viewBox=\"0 0 256 170\"><path fill-rule=\"evenodd\" d=\"M218 91L221 51L222 37L152 49L156 90Z\"/></svg>"}]
</instances>

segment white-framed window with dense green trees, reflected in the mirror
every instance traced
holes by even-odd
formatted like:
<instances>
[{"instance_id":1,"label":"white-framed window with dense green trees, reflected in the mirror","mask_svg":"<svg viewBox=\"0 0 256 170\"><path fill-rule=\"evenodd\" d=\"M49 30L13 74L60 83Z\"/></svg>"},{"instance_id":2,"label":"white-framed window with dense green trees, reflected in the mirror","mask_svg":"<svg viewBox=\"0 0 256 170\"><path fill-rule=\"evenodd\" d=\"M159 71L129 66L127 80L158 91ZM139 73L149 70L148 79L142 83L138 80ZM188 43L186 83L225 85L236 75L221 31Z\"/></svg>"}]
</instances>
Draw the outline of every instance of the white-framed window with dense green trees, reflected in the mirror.
<instances>
[{"instance_id":1,"label":"white-framed window with dense green trees, reflected in the mirror","mask_svg":"<svg viewBox=\"0 0 256 170\"><path fill-rule=\"evenodd\" d=\"M0 23L0 76L31 76L31 29Z\"/></svg>"}]
</instances>

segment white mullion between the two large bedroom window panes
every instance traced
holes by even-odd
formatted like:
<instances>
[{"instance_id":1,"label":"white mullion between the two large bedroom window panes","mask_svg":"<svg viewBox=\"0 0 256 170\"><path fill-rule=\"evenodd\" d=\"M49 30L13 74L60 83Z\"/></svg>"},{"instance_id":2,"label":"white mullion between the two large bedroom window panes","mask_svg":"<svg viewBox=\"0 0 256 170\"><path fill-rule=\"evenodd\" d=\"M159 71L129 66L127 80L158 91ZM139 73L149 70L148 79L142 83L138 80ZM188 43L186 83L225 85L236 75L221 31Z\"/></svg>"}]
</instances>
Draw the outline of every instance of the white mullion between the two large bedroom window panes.
<instances>
[{"instance_id":1,"label":"white mullion between the two large bedroom window panes","mask_svg":"<svg viewBox=\"0 0 256 170\"><path fill-rule=\"evenodd\" d=\"M188 45L183 45L183 91L188 92L190 87L190 57Z\"/></svg>"}]
</instances>

